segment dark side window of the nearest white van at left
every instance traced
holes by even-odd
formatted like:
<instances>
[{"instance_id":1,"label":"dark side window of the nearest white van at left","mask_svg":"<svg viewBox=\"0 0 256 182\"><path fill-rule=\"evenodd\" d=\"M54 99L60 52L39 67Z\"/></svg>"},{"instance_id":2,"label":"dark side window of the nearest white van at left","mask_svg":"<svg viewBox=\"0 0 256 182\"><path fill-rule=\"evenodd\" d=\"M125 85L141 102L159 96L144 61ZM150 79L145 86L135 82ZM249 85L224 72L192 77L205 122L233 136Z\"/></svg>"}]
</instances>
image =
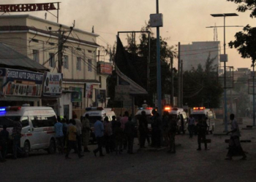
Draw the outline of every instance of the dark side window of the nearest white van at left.
<instances>
[{"instance_id":1,"label":"dark side window of the nearest white van at left","mask_svg":"<svg viewBox=\"0 0 256 182\"><path fill-rule=\"evenodd\" d=\"M33 127L53 127L56 116L30 116Z\"/></svg>"}]
</instances>

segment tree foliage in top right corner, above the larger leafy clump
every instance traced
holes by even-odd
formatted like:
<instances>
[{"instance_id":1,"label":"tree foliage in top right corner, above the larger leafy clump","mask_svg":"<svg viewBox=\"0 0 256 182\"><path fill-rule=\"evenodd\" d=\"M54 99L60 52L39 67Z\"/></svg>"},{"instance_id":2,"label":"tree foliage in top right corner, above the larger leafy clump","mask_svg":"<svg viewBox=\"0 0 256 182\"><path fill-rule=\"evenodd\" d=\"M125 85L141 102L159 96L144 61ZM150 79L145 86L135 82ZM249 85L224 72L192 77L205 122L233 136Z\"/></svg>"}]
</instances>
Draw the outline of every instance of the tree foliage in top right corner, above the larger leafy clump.
<instances>
[{"instance_id":1,"label":"tree foliage in top right corner, above the larger leafy clump","mask_svg":"<svg viewBox=\"0 0 256 182\"><path fill-rule=\"evenodd\" d=\"M238 5L238 12L246 12L247 10L251 10L250 17L256 17L256 1L255 0L227 0L234 2Z\"/></svg>"}]
</instances>

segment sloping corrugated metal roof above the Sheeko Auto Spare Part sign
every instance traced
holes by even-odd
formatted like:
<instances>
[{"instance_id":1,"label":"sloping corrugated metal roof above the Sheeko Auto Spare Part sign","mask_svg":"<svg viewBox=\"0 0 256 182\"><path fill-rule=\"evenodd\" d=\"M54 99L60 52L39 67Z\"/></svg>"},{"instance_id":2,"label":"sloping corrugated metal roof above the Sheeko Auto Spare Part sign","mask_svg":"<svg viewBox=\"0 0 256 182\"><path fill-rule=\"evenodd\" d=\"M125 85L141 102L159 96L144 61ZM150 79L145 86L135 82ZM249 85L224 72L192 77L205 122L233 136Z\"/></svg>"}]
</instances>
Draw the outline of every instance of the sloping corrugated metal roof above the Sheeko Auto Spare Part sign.
<instances>
[{"instance_id":1,"label":"sloping corrugated metal roof above the Sheeko Auto Spare Part sign","mask_svg":"<svg viewBox=\"0 0 256 182\"><path fill-rule=\"evenodd\" d=\"M26 55L23 55L2 43L0 43L0 66L40 72L50 71L45 66L42 66L36 61L28 58Z\"/></svg>"}]
</instances>

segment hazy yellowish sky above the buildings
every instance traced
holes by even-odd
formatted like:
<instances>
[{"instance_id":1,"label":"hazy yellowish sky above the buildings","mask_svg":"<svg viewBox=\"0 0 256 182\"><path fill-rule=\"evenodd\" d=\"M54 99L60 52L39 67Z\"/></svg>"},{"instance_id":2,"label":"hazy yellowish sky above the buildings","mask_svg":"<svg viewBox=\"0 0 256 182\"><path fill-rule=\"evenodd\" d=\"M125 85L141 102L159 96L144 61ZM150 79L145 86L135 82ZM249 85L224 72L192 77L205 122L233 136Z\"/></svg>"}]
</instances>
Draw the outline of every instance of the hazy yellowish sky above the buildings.
<instances>
[{"instance_id":1,"label":"hazy yellowish sky above the buildings","mask_svg":"<svg viewBox=\"0 0 256 182\"><path fill-rule=\"evenodd\" d=\"M2 0L1 4L55 2L51 0ZM191 44L192 41L214 41L214 28L224 25L223 17L212 17L210 14L237 13L238 17L227 17L226 25L252 25L255 19L249 12L237 12L237 4L226 0L159 0L159 13L163 14L164 26L160 28L160 36L170 38L169 45ZM102 46L113 46L118 31L140 31L148 22L149 15L156 13L156 0L62 0L59 11L59 23L71 26L75 20L75 28L90 31L94 25L99 34L98 43ZM56 11L51 11L56 15ZM20 13L11 13L11 15ZM23 13L28 14L28 13ZM45 18L45 12L29 12L30 15ZM7 14L5 14L7 15ZM48 13L48 20L56 22L56 17ZM156 28L153 28L155 31ZM236 32L242 28L226 28L226 43L234 40ZM218 28L218 41L221 41L223 53L223 28ZM121 39L125 42L125 34ZM226 47L229 57L227 66L250 68L251 60L243 59L235 49Z\"/></svg>"}]
</instances>

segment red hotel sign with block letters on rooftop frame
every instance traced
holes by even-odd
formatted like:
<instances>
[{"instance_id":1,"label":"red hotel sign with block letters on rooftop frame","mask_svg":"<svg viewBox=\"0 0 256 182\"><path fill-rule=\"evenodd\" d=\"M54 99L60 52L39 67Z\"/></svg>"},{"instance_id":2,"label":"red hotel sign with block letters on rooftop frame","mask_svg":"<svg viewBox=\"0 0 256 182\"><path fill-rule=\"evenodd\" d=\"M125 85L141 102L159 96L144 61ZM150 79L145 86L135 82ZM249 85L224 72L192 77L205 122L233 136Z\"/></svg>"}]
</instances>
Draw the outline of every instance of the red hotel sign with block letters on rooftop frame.
<instances>
[{"instance_id":1,"label":"red hotel sign with block letters on rooftop frame","mask_svg":"<svg viewBox=\"0 0 256 182\"><path fill-rule=\"evenodd\" d=\"M54 2L41 4L1 4L0 12L35 12L56 10L54 4Z\"/></svg>"}]
</instances>

